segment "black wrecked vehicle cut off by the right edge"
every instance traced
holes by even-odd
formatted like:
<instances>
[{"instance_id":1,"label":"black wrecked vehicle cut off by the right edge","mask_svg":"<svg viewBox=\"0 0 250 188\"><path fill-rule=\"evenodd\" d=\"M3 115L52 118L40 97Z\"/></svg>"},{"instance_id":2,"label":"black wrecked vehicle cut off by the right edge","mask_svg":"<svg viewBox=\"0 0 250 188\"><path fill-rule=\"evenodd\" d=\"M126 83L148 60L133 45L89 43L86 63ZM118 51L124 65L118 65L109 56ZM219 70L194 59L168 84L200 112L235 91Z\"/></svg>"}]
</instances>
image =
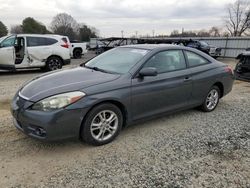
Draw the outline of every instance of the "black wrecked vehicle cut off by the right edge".
<instances>
[{"instance_id":1,"label":"black wrecked vehicle cut off by the right edge","mask_svg":"<svg viewBox=\"0 0 250 188\"><path fill-rule=\"evenodd\" d=\"M239 60L235 66L236 78L250 81L250 51L246 50L239 54L236 59Z\"/></svg>"}]
</instances>

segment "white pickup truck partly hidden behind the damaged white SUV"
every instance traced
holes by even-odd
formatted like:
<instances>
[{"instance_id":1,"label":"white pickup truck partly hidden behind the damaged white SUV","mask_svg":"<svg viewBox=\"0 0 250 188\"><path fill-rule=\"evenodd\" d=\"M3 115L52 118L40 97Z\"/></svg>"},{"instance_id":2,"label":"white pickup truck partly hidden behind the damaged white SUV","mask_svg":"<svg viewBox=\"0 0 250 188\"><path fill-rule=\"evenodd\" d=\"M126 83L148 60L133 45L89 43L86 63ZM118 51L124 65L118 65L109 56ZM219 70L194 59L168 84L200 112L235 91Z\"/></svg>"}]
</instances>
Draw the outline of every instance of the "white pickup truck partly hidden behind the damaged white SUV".
<instances>
[{"instance_id":1,"label":"white pickup truck partly hidden behind the damaged white SUV","mask_svg":"<svg viewBox=\"0 0 250 188\"><path fill-rule=\"evenodd\" d=\"M88 52L87 50L87 42L80 41L70 41L71 43L71 54L74 58L79 59L82 55Z\"/></svg>"}]
</instances>

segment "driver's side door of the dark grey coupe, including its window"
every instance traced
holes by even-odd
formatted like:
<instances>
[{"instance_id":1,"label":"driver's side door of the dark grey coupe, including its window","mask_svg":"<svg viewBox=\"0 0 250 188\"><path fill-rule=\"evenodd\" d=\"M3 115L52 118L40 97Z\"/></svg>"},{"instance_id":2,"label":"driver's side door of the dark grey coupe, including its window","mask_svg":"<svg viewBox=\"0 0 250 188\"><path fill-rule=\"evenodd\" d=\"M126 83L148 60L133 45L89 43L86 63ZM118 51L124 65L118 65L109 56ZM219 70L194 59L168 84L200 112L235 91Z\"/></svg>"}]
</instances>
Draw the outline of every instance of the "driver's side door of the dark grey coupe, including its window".
<instances>
[{"instance_id":1,"label":"driver's side door of the dark grey coupe, including its window","mask_svg":"<svg viewBox=\"0 0 250 188\"><path fill-rule=\"evenodd\" d=\"M192 80L182 50L167 50L153 55L143 67L154 67L157 76L132 79L133 119L176 110L188 105Z\"/></svg>"}]
</instances>

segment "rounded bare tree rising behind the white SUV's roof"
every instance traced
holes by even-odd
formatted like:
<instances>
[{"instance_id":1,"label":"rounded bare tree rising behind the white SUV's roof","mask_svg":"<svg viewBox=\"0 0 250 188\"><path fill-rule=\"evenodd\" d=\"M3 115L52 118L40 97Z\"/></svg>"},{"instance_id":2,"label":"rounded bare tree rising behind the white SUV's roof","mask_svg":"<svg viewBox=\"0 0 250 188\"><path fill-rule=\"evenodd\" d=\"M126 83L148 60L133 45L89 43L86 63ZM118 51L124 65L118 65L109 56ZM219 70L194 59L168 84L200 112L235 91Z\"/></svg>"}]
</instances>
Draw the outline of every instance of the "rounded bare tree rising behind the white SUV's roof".
<instances>
[{"instance_id":1,"label":"rounded bare tree rising behind the white SUV's roof","mask_svg":"<svg viewBox=\"0 0 250 188\"><path fill-rule=\"evenodd\" d=\"M53 18L51 29L54 33L66 35L72 40L75 39L79 32L79 24L71 15L60 13Z\"/></svg>"}]
</instances>

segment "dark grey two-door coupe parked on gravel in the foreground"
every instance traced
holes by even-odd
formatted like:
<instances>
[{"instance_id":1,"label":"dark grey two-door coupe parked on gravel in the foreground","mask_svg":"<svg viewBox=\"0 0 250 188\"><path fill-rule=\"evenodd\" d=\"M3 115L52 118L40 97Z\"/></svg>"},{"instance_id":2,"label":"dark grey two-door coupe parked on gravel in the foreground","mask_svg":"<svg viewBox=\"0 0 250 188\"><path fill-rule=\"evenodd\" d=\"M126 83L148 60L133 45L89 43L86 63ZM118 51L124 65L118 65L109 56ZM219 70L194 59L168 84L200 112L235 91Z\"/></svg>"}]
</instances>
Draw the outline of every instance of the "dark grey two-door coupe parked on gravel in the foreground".
<instances>
[{"instance_id":1,"label":"dark grey two-door coupe parked on gravel in the foreground","mask_svg":"<svg viewBox=\"0 0 250 188\"><path fill-rule=\"evenodd\" d=\"M144 118L198 106L211 112L233 81L227 65L196 49L123 46L34 78L17 91L11 111L17 129L31 137L102 145Z\"/></svg>"}]
</instances>

